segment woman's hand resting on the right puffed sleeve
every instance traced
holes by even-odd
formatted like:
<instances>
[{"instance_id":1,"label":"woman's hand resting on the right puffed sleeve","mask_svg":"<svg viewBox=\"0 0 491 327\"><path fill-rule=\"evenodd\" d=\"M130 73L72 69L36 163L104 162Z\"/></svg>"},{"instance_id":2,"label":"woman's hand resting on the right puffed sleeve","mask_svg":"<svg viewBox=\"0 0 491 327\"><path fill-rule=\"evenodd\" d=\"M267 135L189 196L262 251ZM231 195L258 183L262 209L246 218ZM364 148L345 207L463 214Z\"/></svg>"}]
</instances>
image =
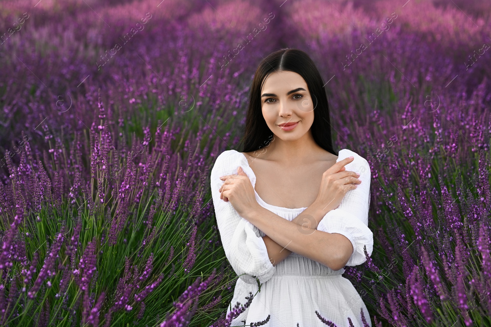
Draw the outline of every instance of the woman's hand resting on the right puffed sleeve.
<instances>
[{"instance_id":1,"label":"woman's hand resting on the right puffed sleeve","mask_svg":"<svg viewBox=\"0 0 491 327\"><path fill-rule=\"evenodd\" d=\"M355 190L361 180L359 174L346 170L345 165L353 162L355 158L345 158L335 163L322 174L321 188L315 200L326 215L336 209L348 191Z\"/></svg>"}]
</instances>

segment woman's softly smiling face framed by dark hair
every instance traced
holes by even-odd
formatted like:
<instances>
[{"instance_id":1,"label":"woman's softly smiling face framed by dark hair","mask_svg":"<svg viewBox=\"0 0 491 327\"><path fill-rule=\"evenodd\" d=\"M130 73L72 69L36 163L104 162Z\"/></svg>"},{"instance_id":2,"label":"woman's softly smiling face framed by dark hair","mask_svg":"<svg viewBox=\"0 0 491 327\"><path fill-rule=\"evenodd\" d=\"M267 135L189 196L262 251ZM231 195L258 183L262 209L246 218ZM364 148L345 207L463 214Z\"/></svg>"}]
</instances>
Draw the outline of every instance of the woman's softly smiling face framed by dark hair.
<instances>
[{"instance_id":1,"label":"woman's softly smiling face framed by dark hair","mask_svg":"<svg viewBox=\"0 0 491 327\"><path fill-rule=\"evenodd\" d=\"M307 83L291 71L271 73L261 90L261 109L273 134L284 141L304 136L314 122L314 106ZM290 125L284 126L282 125Z\"/></svg>"}]
</instances>

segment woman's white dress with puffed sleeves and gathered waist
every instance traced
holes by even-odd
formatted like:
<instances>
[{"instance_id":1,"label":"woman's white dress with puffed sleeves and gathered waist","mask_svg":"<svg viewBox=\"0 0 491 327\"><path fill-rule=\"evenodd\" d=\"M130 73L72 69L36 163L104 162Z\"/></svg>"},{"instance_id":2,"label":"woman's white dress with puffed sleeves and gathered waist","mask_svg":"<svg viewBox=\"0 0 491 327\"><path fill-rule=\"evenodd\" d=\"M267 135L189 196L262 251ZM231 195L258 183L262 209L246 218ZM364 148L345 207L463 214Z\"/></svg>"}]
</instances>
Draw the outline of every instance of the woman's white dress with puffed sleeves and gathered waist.
<instances>
[{"instance_id":1,"label":"woman's white dress with puffed sleeves and gathered waist","mask_svg":"<svg viewBox=\"0 0 491 327\"><path fill-rule=\"evenodd\" d=\"M373 249L373 234L368 228L368 208L370 205L370 166L368 162L355 152L342 149L336 162L349 156L355 159L346 164L346 170L358 172L362 183L355 190L348 191L341 204L329 211L319 222L317 230L328 233L339 233L346 236L353 245L353 254L347 266L360 265L366 261L363 246L369 255ZM265 234L252 223L241 217L230 201L220 199L218 191L223 181L220 176L237 174L241 166L247 174L252 187L256 184L256 176L249 167L246 157L236 151L228 150L221 153L211 171L211 189L218 230L225 255L237 275L234 296L227 307L237 301L246 303L249 292L258 291L255 275L261 285L250 306L232 320L231 327L244 326L241 322L250 323L264 321L271 315L266 327L326 327L315 311L324 319L333 322L337 327L349 327L348 317L355 327L364 327L361 310L368 326L370 316L363 300L356 292L353 284L343 276L344 268L338 271L295 252L273 266L266 245ZM256 200L262 207L278 216L292 220L306 208L283 208L264 202L257 192Z\"/></svg>"}]
</instances>

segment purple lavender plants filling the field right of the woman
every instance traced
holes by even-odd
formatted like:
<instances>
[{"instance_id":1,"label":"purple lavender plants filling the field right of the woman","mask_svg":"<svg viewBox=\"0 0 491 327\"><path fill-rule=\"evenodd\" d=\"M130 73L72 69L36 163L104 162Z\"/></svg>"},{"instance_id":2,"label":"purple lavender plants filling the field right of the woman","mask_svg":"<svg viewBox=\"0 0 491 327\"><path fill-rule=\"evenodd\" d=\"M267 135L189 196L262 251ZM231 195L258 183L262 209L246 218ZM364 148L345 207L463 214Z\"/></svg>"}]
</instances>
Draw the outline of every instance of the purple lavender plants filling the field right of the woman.
<instances>
[{"instance_id":1,"label":"purple lavender plants filling the field right of the woman","mask_svg":"<svg viewBox=\"0 0 491 327\"><path fill-rule=\"evenodd\" d=\"M336 76L328 85L337 144L358 150L373 176L374 252L345 276L376 326L489 325L490 71L486 56L464 64L462 55L482 48L489 24L480 21L482 28L459 39L445 29L474 17L438 9L452 23L422 31L418 22L438 11L431 4L379 1L379 22L387 12L398 17L367 42L378 26L359 27L362 18L370 21L366 15L356 13L356 28L340 24L348 32L334 27L319 35L310 17L335 9L311 4L307 14L292 8L291 25L310 28L315 38L305 48L315 50L328 78ZM441 44L428 42L435 37ZM367 49L351 56L361 43ZM458 44L465 47L449 52Z\"/></svg>"}]
</instances>

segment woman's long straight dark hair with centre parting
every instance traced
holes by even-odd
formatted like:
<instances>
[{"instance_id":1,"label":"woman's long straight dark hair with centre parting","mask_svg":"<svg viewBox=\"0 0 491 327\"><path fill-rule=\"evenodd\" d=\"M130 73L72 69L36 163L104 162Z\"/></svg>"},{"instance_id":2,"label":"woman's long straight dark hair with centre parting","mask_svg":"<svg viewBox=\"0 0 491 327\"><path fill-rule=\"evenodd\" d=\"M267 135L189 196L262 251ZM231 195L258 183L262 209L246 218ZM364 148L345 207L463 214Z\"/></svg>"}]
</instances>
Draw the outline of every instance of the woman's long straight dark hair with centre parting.
<instances>
[{"instance_id":1,"label":"woman's long straight dark hair with centre parting","mask_svg":"<svg viewBox=\"0 0 491 327\"><path fill-rule=\"evenodd\" d=\"M266 77L277 71L292 71L305 80L315 108L314 122L311 127L314 141L326 151L337 156L338 152L332 147L329 105L324 80L308 54L299 49L288 48L269 54L257 67L250 88L245 133L239 144L241 149L239 152L259 150L266 146L273 137L273 132L266 124L261 110L261 88Z\"/></svg>"}]
</instances>

